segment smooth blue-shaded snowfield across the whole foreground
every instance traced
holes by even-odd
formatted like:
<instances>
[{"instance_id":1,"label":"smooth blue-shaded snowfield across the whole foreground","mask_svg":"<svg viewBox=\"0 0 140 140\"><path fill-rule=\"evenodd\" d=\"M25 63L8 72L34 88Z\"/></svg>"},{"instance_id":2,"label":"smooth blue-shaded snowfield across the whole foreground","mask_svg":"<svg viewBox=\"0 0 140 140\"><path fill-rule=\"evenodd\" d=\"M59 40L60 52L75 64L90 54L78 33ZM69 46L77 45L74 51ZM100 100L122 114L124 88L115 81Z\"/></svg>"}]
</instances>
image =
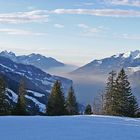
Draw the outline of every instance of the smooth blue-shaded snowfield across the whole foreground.
<instances>
[{"instance_id":1,"label":"smooth blue-shaded snowfield across the whole foreground","mask_svg":"<svg viewBox=\"0 0 140 140\"><path fill-rule=\"evenodd\" d=\"M110 116L0 117L0 140L140 140L140 119Z\"/></svg>"}]
</instances>

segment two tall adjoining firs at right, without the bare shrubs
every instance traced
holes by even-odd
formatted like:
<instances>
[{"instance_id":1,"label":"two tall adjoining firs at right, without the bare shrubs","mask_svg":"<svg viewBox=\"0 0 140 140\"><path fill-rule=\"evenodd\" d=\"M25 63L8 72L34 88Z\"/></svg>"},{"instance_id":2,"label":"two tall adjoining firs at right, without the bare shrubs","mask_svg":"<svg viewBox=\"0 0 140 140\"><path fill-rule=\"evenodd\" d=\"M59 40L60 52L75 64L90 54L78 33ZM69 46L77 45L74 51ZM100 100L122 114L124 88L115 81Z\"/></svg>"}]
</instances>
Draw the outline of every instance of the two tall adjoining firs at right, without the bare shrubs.
<instances>
[{"instance_id":1,"label":"two tall adjoining firs at right, without the bare shrubs","mask_svg":"<svg viewBox=\"0 0 140 140\"><path fill-rule=\"evenodd\" d=\"M124 69L119 72L116 80L114 80L113 75L112 73L109 76L109 82L107 83L105 95L106 114L135 117L138 110L138 103L131 92L131 86Z\"/></svg>"}]
</instances>

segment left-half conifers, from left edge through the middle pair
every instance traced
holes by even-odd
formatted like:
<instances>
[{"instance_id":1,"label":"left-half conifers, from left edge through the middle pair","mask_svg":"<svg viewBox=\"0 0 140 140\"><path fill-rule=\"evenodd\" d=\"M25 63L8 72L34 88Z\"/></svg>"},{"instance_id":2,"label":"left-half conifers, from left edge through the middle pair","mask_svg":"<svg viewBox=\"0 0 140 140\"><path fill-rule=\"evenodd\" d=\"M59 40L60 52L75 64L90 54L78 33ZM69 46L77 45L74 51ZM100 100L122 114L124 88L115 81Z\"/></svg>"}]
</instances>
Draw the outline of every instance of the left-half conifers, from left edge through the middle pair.
<instances>
[{"instance_id":1,"label":"left-half conifers, from left edge through the middle pair","mask_svg":"<svg viewBox=\"0 0 140 140\"><path fill-rule=\"evenodd\" d=\"M78 103L76 101L74 89L71 86L65 99L61 82L56 81L46 104L46 112L43 115L78 115ZM15 106L7 99L6 83L4 78L0 77L0 115L30 115L27 110L25 99L26 86L23 80L19 84L18 100ZM38 111L38 110L37 110Z\"/></svg>"}]
</instances>

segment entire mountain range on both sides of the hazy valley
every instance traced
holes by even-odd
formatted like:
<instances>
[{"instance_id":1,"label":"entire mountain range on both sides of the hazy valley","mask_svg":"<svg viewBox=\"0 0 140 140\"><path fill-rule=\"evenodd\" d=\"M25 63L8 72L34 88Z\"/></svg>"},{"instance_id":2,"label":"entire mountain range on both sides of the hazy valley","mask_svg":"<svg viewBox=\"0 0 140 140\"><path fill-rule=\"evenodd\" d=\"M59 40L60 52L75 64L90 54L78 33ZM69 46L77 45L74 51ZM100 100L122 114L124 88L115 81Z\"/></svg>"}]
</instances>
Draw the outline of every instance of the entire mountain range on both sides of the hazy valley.
<instances>
[{"instance_id":1,"label":"entire mountain range on both sides of the hazy valley","mask_svg":"<svg viewBox=\"0 0 140 140\"><path fill-rule=\"evenodd\" d=\"M121 68L124 68L131 82L132 91L140 101L140 50L120 53L103 59L95 59L66 74L65 77L68 77L68 79L52 76L44 72L44 67L45 69L57 68L56 65L51 65L51 60L40 54L16 56L13 52L1 52L0 71L6 79L10 79L8 82L9 88L7 89L9 97L15 101L19 81L21 76L24 76L28 83L26 97L30 102L29 106L34 108L35 104L37 104L40 111L43 111L42 106L47 101L47 96L50 94L53 83L56 80L61 80L66 93L73 81L78 102L86 105L87 103L93 103L94 97L104 90L110 71L115 70L118 72ZM59 61L55 61L59 63ZM43 67L40 65L40 62L43 62ZM48 67L47 63L51 66ZM65 64L62 65L64 66ZM63 66L62 69L64 68ZM59 69L57 71L59 72ZM51 73L53 74L53 71ZM72 79L72 81L69 79ZM41 95L42 97L40 97Z\"/></svg>"}]
</instances>

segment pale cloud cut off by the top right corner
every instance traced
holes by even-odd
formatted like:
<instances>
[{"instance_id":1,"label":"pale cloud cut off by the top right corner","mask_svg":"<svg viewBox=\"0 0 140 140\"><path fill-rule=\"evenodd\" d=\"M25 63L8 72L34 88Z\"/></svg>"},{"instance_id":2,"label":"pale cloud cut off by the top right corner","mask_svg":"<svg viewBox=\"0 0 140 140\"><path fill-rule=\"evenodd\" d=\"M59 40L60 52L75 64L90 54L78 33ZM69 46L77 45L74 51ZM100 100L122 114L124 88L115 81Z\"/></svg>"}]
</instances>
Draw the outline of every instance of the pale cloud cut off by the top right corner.
<instances>
[{"instance_id":1,"label":"pale cloud cut off by the top right corner","mask_svg":"<svg viewBox=\"0 0 140 140\"><path fill-rule=\"evenodd\" d=\"M140 0L105 0L104 2L112 5L140 7Z\"/></svg>"}]
</instances>

